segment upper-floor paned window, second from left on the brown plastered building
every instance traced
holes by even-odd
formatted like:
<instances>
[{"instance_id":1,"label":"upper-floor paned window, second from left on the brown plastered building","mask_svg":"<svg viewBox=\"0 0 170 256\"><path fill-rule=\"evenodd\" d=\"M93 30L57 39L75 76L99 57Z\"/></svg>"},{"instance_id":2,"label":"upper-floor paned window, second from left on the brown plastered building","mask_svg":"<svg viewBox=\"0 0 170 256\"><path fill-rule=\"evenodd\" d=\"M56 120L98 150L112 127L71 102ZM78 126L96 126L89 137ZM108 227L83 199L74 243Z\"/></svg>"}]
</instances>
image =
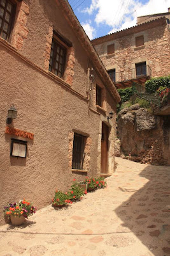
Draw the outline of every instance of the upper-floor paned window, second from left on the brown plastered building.
<instances>
[{"instance_id":1,"label":"upper-floor paned window, second from left on the brown plastered building","mask_svg":"<svg viewBox=\"0 0 170 256\"><path fill-rule=\"evenodd\" d=\"M64 74L66 52L66 47L60 44L60 42L58 42L57 39L53 38L50 53L49 70L56 76L62 77Z\"/></svg>"}]
</instances>

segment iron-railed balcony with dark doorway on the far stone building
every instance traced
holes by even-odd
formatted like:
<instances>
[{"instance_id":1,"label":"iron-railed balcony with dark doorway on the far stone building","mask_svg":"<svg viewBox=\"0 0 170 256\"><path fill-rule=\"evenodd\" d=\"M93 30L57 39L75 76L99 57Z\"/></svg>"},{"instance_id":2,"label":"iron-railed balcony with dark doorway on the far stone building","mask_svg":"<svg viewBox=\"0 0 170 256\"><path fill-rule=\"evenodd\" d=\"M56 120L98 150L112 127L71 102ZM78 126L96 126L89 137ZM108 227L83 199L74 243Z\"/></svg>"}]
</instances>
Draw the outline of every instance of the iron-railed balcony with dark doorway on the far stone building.
<instances>
[{"instance_id":1,"label":"iron-railed balcony with dark doorway on the far stone building","mask_svg":"<svg viewBox=\"0 0 170 256\"><path fill-rule=\"evenodd\" d=\"M132 68L126 71L120 71L115 73L115 86L119 88L131 87L132 83L143 84L146 80L150 79L152 70L148 65L136 65L136 68Z\"/></svg>"}]
</instances>

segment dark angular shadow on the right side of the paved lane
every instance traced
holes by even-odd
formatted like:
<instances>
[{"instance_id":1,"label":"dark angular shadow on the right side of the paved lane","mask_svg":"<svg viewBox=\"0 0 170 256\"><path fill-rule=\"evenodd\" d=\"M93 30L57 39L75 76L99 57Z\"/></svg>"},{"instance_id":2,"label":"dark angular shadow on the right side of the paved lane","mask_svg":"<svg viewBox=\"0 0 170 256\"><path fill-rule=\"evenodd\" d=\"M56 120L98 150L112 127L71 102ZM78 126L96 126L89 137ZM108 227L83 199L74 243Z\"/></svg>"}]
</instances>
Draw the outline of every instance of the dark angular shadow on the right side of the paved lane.
<instances>
[{"instance_id":1,"label":"dark angular shadow on the right side of the paved lane","mask_svg":"<svg viewBox=\"0 0 170 256\"><path fill-rule=\"evenodd\" d=\"M143 188L136 190L132 183L128 188L119 188L123 193L134 193L115 209L124 221L124 232L131 230L155 256L170 255L170 168L146 166L139 177L148 179ZM132 187L129 188L129 187Z\"/></svg>"}]
</instances>

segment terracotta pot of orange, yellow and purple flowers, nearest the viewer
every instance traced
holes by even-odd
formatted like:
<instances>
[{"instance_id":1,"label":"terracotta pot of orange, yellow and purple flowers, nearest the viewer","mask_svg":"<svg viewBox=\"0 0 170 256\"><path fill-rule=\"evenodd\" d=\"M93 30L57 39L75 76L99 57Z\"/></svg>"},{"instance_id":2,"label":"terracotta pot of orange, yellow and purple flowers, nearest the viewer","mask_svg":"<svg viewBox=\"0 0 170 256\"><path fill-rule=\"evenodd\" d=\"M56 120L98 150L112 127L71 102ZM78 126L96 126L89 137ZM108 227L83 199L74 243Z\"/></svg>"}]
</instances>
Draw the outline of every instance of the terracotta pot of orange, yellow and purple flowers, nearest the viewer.
<instances>
[{"instance_id":1,"label":"terracotta pot of orange, yellow and purple flowers, nearest the viewer","mask_svg":"<svg viewBox=\"0 0 170 256\"><path fill-rule=\"evenodd\" d=\"M36 213L36 207L26 200L20 200L18 204L9 204L4 207L4 214L10 218L11 224L14 226L22 225L25 218L34 213Z\"/></svg>"}]
</instances>

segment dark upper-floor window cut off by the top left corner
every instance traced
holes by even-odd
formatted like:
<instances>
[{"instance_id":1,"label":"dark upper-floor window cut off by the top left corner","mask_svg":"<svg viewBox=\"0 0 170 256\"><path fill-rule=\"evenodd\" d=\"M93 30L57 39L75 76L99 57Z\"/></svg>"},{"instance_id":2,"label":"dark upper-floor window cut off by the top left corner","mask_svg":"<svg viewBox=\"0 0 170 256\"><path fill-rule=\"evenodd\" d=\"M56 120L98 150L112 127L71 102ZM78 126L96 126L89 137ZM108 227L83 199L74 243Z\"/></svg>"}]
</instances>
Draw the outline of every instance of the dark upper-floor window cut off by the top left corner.
<instances>
[{"instance_id":1,"label":"dark upper-floor window cut off by the top left corner","mask_svg":"<svg viewBox=\"0 0 170 256\"><path fill-rule=\"evenodd\" d=\"M10 0L0 0L0 36L5 40L10 38L14 16L15 4Z\"/></svg>"}]
</instances>

